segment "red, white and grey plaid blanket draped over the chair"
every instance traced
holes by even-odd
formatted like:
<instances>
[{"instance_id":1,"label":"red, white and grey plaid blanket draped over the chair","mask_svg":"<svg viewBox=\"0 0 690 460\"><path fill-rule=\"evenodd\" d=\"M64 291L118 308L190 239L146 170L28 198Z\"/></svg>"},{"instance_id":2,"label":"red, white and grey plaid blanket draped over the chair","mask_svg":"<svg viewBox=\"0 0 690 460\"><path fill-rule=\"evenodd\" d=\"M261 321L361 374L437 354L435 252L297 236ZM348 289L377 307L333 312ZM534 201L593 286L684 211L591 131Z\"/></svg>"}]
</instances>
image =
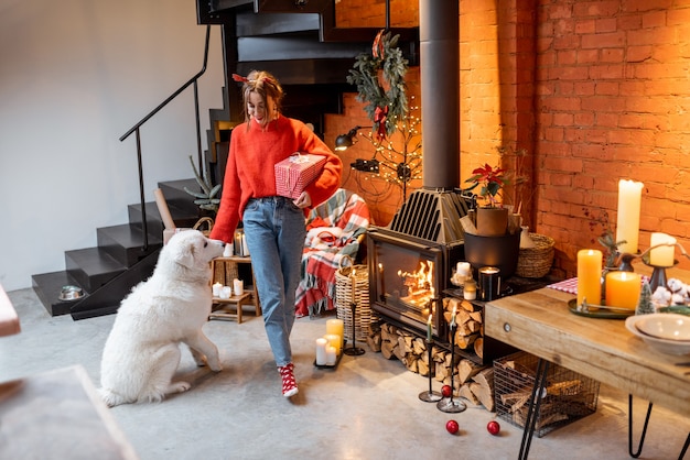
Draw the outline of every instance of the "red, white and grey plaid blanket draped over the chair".
<instances>
[{"instance_id":1,"label":"red, white and grey plaid blanket draped over the chair","mask_svg":"<svg viewBox=\"0 0 690 460\"><path fill-rule=\"evenodd\" d=\"M298 317L335 308L335 272L344 256L355 260L358 238L369 228L369 208L352 191L339 188L306 217L308 236L302 252L302 278L298 286Z\"/></svg>"}]
</instances>

